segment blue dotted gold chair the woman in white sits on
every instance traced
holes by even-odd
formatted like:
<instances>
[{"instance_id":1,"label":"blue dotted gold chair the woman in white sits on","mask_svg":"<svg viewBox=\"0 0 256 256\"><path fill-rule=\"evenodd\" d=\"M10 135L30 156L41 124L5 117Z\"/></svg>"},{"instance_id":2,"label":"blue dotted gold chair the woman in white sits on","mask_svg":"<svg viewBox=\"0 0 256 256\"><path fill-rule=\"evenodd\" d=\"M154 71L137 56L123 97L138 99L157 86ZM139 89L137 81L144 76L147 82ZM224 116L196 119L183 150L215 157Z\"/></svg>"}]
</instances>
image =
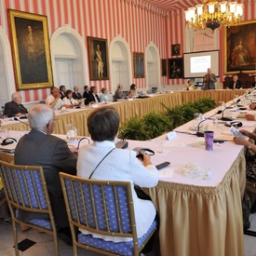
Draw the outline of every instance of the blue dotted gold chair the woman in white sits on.
<instances>
[{"instance_id":1,"label":"blue dotted gold chair the woman in white sits on","mask_svg":"<svg viewBox=\"0 0 256 256\"><path fill-rule=\"evenodd\" d=\"M105 255L139 255L155 233L156 222L139 239L133 209L130 182L107 182L60 173L61 186L73 236L77 247ZM103 236L131 238L128 242L105 241L91 235L75 236L74 227Z\"/></svg>"}]
</instances>

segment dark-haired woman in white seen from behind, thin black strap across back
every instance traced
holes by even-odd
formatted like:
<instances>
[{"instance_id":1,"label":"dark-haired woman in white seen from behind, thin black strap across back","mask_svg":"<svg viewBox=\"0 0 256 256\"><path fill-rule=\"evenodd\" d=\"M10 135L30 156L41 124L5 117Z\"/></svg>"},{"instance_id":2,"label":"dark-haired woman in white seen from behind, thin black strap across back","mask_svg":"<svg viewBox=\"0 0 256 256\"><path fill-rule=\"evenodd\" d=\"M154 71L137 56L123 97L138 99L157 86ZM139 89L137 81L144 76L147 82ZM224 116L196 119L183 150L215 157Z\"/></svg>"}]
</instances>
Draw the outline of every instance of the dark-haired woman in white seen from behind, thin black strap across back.
<instances>
[{"instance_id":1,"label":"dark-haired woman in white seen from behind, thin black strap across back","mask_svg":"<svg viewBox=\"0 0 256 256\"><path fill-rule=\"evenodd\" d=\"M136 152L115 148L119 122L119 115L115 109L109 107L96 109L88 115L88 131L94 142L79 149L77 176L93 180L130 182L137 235L140 238L154 222L156 211L152 201L138 198L134 185L155 187L158 171L152 165L150 155L142 154L143 159L139 160ZM100 165L97 166L98 164ZM86 230L81 232L91 234ZM124 240L113 236L101 238L115 242Z\"/></svg>"}]
</instances>

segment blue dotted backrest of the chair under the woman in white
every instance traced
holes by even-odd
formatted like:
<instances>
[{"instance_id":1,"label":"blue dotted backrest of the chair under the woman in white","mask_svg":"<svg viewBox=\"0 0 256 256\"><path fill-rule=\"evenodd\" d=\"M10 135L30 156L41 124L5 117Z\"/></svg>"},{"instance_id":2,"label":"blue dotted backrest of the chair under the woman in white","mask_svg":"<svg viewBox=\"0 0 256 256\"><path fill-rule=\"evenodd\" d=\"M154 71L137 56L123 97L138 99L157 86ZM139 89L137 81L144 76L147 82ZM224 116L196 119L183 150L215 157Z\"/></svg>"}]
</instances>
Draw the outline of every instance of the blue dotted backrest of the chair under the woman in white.
<instances>
[{"instance_id":1,"label":"blue dotted backrest of the chair under the woman in white","mask_svg":"<svg viewBox=\"0 0 256 256\"><path fill-rule=\"evenodd\" d=\"M93 229L131 233L128 186L64 179L71 218ZM88 182L87 182L88 181ZM99 181L98 181L99 182Z\"/></svg>"}]
</instances>

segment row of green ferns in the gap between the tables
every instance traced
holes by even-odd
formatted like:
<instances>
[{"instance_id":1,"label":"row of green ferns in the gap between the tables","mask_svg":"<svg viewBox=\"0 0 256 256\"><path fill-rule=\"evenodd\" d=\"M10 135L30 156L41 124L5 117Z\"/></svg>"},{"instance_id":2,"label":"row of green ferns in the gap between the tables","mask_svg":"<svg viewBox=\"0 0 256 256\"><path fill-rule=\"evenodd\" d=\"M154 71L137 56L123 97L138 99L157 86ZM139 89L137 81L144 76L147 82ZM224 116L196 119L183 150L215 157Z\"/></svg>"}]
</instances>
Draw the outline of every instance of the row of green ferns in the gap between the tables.
<instances>
[{"instance_id":1,"label":"row of green ferns in the gap between the tables","mask_svg":"<svg viewBox=\"0 0 256 256\"><path fill-rule=\"evenodd\" d=\"M165 113L151 112L144 115L141 119L138 116L130 118L119 131L120 139L135 141L147 141L162 135L173 128L182 126L184 123L194 118L194 113L206 113L216 106L215 101L209 98L199 99L194 102L188 102L166 108Z\"/></svg>"}]
</instances>

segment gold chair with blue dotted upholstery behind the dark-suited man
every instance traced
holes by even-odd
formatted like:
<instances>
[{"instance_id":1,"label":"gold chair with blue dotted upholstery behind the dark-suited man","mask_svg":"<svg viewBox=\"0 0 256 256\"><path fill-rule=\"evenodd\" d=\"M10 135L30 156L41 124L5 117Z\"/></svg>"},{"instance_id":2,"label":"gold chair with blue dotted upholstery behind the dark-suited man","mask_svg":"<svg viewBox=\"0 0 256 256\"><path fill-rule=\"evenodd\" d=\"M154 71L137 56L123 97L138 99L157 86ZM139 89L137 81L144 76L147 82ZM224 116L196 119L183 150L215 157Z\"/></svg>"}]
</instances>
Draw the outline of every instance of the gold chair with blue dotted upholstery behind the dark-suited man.
<instances>
[{"instance_id":1,"label":"gold chair with blue dotted upholstery behind the dark-suited man","mask_svg":"<svg viewBox=\"0 0 256 256\"><path fill-rule=\"evenodd\" d=\"M17 166L0 161L0 174L11 213L16 255L19 255L17 223L52 235L54 238L55 254L59 255L57 231L43 168ZM22 209L35 213L46 213L49 217L48 219L32 219L29 222L21 222L17 217L16 209L18 211Z\"/></svg>"}]
</instances>

